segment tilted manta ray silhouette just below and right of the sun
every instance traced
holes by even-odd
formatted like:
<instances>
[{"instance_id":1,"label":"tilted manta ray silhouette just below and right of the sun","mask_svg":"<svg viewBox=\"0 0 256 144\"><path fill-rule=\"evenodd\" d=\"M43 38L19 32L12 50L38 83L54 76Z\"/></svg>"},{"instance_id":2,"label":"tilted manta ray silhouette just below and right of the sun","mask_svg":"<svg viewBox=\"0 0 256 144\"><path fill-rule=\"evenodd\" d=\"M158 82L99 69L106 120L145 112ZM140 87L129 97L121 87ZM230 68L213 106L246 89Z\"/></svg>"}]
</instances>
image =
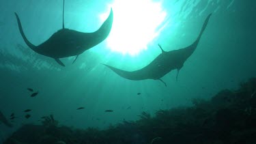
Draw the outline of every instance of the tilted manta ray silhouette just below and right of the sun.
<instances>
[{"instance_id":1,"label":"tilted manta ray silhouette just below and right of the sun","mask_svg":"<svg viewBox=\"0 0 256 144\"><path fill-rule=\"evenodd\" d=\"M148 64L144 68L141 68L140 70L129 72L125 70L120 70L118 68L114 68L113 66L109 66L106 64L104 65L113 70L113 72L115 72L119 76L134 81L140 81L145 79L154 79L162 81L162 76L165 76L165 74L168 74L169 72L171 72L171 70L175 69L177 69L178 76L180 69L182 69L186 59L188 59L188 57L190 57L190 55L192 55L195 49L197 48L197 44L199 43L201 35L203 34L203 31L205 30L205 27L207 26L211 15L212 14L209 14L208 17L205 19L203 27L201 28L201 31L197 37L197 40L195 40L193 44L190 44L190 46L187 46L185 48L169 52L164 51L160 44L158 44L162 53L158 55L158 57L156 57L156 59L154 59L150 64ZM165 86L167 86L164 81L162 81L162 83L164 83Z\"/></svg>"}]
</instances>

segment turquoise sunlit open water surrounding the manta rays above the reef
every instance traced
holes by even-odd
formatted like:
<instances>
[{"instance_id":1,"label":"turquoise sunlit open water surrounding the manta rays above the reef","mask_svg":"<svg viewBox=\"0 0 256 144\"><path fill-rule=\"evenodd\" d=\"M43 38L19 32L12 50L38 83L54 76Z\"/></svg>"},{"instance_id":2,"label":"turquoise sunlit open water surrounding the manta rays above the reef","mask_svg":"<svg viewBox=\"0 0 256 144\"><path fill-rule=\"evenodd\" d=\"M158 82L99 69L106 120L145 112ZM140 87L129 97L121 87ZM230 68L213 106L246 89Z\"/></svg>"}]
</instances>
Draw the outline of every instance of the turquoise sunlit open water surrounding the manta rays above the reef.
<instances>
[{"instance_id":1,"label":"turquoise sunlit open water surrounding the manta rays above the reef","mask_svg":"<svg viewBox=\"0 0 256 144\"><path fill-rule=\"evenodd\" d=\"M66 27L95 31L101 25L98 16L112 2L67 0ZM61 125L104 129L123 119L137 120L143 111L154 115L160 109L191 105L193 98L208 100L221 89L236 89L256 74L255 1L162 1L170 23L147 50L136 56L122 55L110 51L105 40L74 64L74 57L61 59L65 68L27 47L14 16L14 12L20 15L27 38L37 45L61 29L61 3L0 1L0 110L7 117L11 113L17 116L12 121L14 128L0 125L3 138L23 124L40 124L40 117L50 114ZM113 12L115 18L114 8ZM172 51L194 42L210 13L199 46L184 63L178 81L176 70L162 77L167 87L160 81L127 80L102 65L128 71L143 68L160 55L158 43ZM39 91L38 95L31 98L28 87ZM85 109L77 111L81 106ZM29 119L24 117L25 109L32 109ZM105 113L107 109L113 112Z\"/></svg>"}]
</instances>

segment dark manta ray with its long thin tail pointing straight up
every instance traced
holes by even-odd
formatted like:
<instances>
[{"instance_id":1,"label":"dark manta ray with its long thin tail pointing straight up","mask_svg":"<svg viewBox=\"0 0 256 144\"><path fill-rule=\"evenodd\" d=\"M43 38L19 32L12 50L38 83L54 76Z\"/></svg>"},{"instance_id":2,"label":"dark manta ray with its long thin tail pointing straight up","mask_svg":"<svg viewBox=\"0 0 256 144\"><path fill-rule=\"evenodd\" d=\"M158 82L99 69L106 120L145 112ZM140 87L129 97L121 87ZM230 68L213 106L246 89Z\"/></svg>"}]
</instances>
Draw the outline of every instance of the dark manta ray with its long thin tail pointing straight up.
<instances>
[{"instance_id":1,"label":"dark manta ray with its long thin tail pointing straight up","mask_svg":"<svg viewBox=\"0 0 256 144\"><path fill-rule=\"evenodd\" d=\"M59 58L76 56L74 59L74 61L76 61L77 57L79 57L81 53L105 40L111 31L113 23L113 11L111 8L109 17L106 18L104 23L97 31L92 33L83 33L74 31L72 29L66 29L64 27L64 3L65 1L63 0L62 29L59 29L59 31L53 33L48 40L38 46L31 44L31 42L27 40L23 27L20 23L20 18L15 12L16 19L18 21L18 29L20 30L20 34L22 35L27 46L35 51L35 53L39 53L40 55L44 55L46 57L52 57L61 66L65 65L59 60Z\"/></svg>"}]
</instances>

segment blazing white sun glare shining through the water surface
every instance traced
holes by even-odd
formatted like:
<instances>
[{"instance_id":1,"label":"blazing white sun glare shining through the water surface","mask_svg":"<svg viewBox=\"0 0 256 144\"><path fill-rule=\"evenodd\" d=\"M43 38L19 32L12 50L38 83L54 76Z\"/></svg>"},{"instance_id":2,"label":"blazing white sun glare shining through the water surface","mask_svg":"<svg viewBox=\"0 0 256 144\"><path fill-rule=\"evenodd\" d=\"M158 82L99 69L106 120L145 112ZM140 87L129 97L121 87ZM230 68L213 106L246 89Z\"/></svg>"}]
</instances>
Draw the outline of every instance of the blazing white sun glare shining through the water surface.
<instances>
[{"instance_id":1,"label":"blazing white sun glare shining through the water surface","mask_svg":"<svg viewBox=\"0 0 256 144\"><path fill-rule=\"evenodd\" d=\"M160 2L152 0L115 0L109 7L113 8L113 25L107 47L111 51L124 55L139 55L147 49L165 27L167 13L162 10ZM103 21L108 13L100 16Z\"/></svg>"}]
</instances>

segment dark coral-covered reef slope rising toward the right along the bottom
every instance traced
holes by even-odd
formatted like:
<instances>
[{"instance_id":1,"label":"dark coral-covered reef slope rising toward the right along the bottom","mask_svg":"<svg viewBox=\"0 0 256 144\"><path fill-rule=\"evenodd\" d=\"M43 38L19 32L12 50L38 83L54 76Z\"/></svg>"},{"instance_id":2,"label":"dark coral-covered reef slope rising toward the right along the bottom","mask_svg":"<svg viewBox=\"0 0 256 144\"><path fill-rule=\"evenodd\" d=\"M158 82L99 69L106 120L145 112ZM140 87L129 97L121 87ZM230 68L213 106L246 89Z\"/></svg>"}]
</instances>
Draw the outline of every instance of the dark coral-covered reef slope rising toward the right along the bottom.
<instances>
[{"instance_id":1,"label":"dark coral-covered reef slope rising toward the right along the bottom","mask_svg":"<svg viewBox=\"0 0 256 144\"><path fill-rule=\"evenodd\" d=\"M193 106L143 112L137 121L123 121L106 130L74 130L57 126L53 115L42 126L25 125L5 144L240 144L256 143L256 78L240 89L224 89L211 100L194 99Z\"/></svg>"}]
</instances>

